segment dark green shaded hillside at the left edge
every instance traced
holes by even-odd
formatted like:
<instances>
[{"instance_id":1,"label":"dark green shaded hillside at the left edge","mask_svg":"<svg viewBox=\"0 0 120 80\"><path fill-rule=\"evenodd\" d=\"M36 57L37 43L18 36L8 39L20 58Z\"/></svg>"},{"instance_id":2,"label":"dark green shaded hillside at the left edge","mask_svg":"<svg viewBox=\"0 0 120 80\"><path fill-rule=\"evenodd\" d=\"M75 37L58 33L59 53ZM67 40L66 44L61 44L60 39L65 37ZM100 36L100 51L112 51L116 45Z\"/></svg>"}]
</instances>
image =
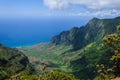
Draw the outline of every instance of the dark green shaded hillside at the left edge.
<instances>
[{"instance_id":1,"label":"dark green shaded hillside at the left edge","mask_svg":"<svg viewBox=\"0 0 120 80\"><path fill-rule=\"evenodd\" d=\"M28 58L17 49L0 45L0 80L17 73L31 74L34 72Z\"/></svg>"}]
</instances>

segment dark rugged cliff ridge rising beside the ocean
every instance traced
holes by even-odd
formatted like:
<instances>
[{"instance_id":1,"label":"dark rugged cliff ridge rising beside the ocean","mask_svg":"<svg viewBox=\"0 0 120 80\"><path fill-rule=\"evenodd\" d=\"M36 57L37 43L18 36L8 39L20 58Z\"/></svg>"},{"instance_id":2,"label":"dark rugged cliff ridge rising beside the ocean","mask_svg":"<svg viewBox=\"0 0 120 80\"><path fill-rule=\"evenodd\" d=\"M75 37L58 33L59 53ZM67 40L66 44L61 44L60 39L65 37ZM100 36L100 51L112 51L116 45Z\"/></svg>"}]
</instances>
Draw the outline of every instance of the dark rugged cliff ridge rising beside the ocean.
<instances>
[{"instance_id":1,"label":"dark rugged cliff ridge rising beside the ocean","mask_svg":"<svg viewBox=\"0 0 120 80\"><path fill-rule=\"evenodd\" d=\"M85 26L74 27L51 39L54 44L72 44L74 49L80 49L90 42L100 41L105 35L114 33L120 23L120 17L114 19L93 18Z\"/></svg>"}]
</instances>

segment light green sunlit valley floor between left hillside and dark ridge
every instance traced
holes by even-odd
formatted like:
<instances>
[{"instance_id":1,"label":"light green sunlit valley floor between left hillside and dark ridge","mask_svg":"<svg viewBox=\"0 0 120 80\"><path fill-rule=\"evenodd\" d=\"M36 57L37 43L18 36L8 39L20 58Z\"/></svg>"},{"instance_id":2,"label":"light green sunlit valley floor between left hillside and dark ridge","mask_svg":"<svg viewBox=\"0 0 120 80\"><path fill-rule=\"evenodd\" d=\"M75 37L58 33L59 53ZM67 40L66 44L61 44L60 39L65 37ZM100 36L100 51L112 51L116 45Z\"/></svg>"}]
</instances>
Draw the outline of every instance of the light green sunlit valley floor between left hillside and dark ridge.
<instances>
[{"instance_id":1,"label":"light green sunlit valley floor between left hillside and dark ridge","mask_svg":"<svg viewBox=\"0 0 120 80\"><path fill-rule=\"evenodd\" d=\"M64 72L71 71L67 65L64 65L64 57L61 56L63 53L72 49L72 46L65 45L54 45L50 43L41 43L35 46L27 46L19 48L20 51L24 52L28 57L36 57L40 60L40 63L50 62L58 67L53 69L62 70Z\"/></svg>"}]
</instances>

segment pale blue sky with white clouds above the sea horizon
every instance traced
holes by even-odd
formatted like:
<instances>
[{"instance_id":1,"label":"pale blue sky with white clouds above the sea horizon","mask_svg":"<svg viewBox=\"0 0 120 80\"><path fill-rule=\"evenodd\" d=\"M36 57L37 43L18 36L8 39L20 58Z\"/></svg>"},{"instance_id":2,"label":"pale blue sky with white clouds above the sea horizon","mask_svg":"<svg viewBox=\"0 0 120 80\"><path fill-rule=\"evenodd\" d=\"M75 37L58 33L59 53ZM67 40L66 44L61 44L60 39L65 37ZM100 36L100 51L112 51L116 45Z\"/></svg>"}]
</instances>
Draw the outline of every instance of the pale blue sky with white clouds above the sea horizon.
<instances>
[{"instance_id":1,"label":"pale blue sky with white clouds above the sea horizon","mask_svg":"<svg viewBox=\"0 0 120 80\"><path fill-rule=\"evenodd\" d=\"M0 0L0 18L119 15L120 0Z\"/></svg>"}]
</instances>

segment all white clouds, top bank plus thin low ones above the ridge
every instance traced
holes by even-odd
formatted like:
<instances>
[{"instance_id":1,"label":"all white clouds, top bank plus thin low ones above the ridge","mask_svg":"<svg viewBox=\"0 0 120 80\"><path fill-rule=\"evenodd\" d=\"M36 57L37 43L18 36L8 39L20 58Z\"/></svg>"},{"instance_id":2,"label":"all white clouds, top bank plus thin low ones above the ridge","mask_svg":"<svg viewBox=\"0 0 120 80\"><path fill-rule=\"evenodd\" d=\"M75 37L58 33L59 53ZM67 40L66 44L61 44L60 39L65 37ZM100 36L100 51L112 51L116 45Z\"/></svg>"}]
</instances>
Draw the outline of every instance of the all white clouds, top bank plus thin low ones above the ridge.
<instances>
[{"instance_id":1,"label":"all white clouds, top bank plus thin low ones above the ridge","mask_svg":"<svg viewBox=\"0 0 120 80\"><path fill-rule=\"evenodd\" d=\"M116 17L120 16L120 0L44 0L44 4L50 9L72 8L72 5L83 6L85 10L69 11L62 16L84 17ZM72 4L72 5L71 5ZM81 8L80 8L81 9ZM73 8L73 10L76 10ZM53 14L53 15L60 15Z\"/></svg>"}]
</instances>

